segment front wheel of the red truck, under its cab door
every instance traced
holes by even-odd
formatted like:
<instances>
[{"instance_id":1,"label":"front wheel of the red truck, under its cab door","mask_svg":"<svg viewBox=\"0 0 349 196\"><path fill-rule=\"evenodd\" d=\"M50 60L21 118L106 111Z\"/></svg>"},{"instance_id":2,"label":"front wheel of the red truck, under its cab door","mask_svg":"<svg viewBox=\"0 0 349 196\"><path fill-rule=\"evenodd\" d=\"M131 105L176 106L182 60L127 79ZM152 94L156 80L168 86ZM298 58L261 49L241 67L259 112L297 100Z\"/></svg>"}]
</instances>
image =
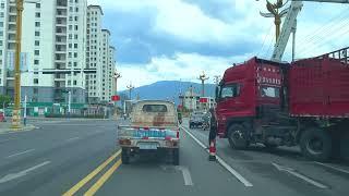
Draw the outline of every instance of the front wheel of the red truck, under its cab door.
<instances>
[{"instance_id":1,"label":"front wheel of the red truck, under its cab door","mask_svg":"<svg viewBox=\"0 0 349 196\"><path fill-rule=\"evenodd\" d=\"M249 146L246 130L240 124L233 124L228 130L228 140L233 149L245 149Z\"/></svg>"}]
</instances>

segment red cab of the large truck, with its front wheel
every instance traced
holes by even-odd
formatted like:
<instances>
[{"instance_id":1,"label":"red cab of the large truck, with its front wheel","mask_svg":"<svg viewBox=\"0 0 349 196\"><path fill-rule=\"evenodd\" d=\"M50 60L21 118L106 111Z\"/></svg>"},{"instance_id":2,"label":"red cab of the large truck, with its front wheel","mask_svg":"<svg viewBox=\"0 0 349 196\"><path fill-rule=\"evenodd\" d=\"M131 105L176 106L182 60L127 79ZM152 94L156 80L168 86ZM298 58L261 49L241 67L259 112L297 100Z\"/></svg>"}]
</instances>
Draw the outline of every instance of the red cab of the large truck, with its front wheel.
<instances>
[{"instance_id":1,"label":"red cab of the large truck, with its front wheel","mask_svg":"<svg viewBox=\"0 0 349 196\"><path fill-rule=\"evenodd\" d=\"M287 64L252 58L225 72L216 88L219 137L228 138L233 148L245 148L251 142L280 145L281 139L269 133L281 118L289 120L285 112L285 68Z\"/></svg>"}]
</instances>

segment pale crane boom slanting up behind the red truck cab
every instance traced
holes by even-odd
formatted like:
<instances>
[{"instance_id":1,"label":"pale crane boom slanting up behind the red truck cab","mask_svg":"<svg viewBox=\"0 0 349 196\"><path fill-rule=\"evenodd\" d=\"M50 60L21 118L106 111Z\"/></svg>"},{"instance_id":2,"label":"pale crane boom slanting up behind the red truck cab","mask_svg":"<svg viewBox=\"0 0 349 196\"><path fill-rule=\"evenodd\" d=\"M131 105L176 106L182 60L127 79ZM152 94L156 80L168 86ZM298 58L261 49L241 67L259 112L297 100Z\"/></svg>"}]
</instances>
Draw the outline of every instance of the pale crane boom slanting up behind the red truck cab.
<instances>
[{"instance_id":1,"label":"pale crane boom slanting up behind the red truck cab","mask_svg":"<svg viewBox=\"0 0 349 196\"><path fill-rule=\"evenodd\" d=\"M349 3L349 0L292 0L291 5L287 10L287 15L280 32L280 35L275 44L272 61L280 62L292 34L292 60L294 60L296 48L296 30L297 30L297 16L303 7L303 1L311 2L329 2L329 3Z\"/></svg>"}]
</instances>

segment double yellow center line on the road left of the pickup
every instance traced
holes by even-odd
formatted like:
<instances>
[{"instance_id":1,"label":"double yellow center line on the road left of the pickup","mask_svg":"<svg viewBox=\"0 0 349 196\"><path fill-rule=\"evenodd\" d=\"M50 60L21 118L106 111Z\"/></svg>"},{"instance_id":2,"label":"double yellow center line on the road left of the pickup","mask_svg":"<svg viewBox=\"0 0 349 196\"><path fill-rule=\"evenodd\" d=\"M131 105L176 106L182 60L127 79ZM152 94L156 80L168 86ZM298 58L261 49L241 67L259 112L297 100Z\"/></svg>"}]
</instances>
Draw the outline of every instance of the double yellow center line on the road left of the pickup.
<instances>
[{"instance_id":1,"label":"double yellow center line on the road left of the pickup","mask_svg":"<svg viewBox=\"0 0 349 196\"><path fill-rule=\"evenodd\" d=\"M63 194L63 196L74 195L81 187L83 187L87 182L95 177L103 169L105 169L112 160L115 160L121 154L121 149L104 161L98 168L92 171L77 184ZM84 194L84 196L92 196L105 184L105 182L110 177L110 175L120 167L121 159L119 159L105 174L103 174L98 181L91 186L91 188Z\"/></svg>"}]
</instances>

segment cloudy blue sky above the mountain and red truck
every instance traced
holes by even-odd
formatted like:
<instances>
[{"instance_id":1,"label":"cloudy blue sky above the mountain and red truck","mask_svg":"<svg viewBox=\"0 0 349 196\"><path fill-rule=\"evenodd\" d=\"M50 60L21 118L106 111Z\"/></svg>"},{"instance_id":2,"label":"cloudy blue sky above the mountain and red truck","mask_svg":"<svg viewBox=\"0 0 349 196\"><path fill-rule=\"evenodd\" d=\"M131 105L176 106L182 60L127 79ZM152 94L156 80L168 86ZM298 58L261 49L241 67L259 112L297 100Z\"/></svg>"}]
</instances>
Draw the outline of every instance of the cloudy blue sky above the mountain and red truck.
<instances>
[{"instance_id":1,"label":"cloudy blue sky above the mountain and red truck","mask_svg":"<svg viewBox=\"0 0 349 196\"><path fill-rule=\"evenodd\" d=\"M198 82L232 63L269 59L273 19L255 0L87 0L104 10L103 26L116 47L118 90L157 81ZM276 0L270 0L275 2ZM349 4L304 2L298 16L296 58L348 47ZM291 60L291 41L284 59Z\"/></svg>"}]
</instances>

